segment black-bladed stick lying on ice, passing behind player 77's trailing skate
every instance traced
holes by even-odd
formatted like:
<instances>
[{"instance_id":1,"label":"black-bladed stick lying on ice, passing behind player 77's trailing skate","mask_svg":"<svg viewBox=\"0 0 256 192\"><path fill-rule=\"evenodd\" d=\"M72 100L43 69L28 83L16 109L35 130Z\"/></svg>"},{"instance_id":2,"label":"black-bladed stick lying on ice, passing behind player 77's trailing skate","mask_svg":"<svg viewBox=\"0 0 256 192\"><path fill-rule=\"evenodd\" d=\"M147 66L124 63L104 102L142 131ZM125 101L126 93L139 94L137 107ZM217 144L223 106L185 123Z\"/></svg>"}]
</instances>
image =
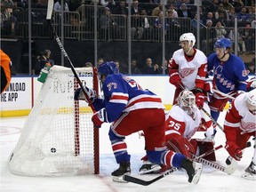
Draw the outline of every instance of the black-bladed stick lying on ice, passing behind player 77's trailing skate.
<instances>
[{"instance_id":1,"label":"black-bladed stick lying on ice, passing behind player 77's trailing skate","mask_svg":"<svg viewBox=\"0 0 256 192\"><path fill-rule=\"evenodd\" d=\"M211 153L218 150L219 148L222 148L222 145L218 146L217 148L212 148L211 150L205 152L201 156L195 156L196 162L199 162L198 159L201 159L203 156L210 155ZM156 177L153 180L142 180L140 178L132 177L131 175L124 175L123 180L125 180L127 182L132 182L132 183L135 183L135 184L139 184L139 185L142 185L142 186L148 186L148 185L156 182L156 180L161 180L165 176L171 174L172 172L176 172L177 170L178 170L177 168L172 167L171 169L165 171L163 174L159 175L158 177Z\"/></svg>"}]
</instances>

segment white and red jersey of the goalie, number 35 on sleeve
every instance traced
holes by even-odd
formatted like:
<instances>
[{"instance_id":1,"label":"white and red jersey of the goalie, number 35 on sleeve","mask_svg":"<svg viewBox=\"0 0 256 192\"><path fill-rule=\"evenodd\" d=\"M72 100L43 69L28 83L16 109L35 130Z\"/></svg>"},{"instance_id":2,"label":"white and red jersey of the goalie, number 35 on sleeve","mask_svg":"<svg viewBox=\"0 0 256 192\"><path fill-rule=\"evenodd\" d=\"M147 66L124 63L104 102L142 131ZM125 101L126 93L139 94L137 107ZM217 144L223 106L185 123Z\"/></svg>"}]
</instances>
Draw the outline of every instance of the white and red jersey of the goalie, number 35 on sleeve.
<instances>
[{"instance_id":1,"label":"white and red jersey of the goalie, number 35 on sleeve","mask_svg":"<svg viewBox=\"0 0 256 192\"><path fill-rule=\"evenodd\" d=\"M178 134L190 140L200 123L201 113L198 108L196 108L195 118L192 118L178 105L174 105L165 116L165 137L169 138L172 134Z\"/></svg>"}]
</instances>

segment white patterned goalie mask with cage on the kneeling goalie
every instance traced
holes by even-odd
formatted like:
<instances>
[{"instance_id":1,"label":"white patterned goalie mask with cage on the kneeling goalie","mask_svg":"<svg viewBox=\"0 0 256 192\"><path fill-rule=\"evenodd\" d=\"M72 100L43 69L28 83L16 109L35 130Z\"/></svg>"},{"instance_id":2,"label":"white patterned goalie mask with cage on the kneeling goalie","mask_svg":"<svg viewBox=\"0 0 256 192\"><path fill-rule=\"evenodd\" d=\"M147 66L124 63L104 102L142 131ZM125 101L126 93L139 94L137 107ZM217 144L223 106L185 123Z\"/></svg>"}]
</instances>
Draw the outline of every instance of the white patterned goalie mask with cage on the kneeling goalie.
<instances>
[{"instance_id":1,"label":"white patterned goalie mask with cage on the kneeling goalie","mask_svg":"<svg viewBox=\"0 0 256 192\"><path fill-rule=\"evenodd\" d=\"M195 115L196 97L193 92L190 92L189 90L180 92L177 101L180 108L182 108L189 116Z\"/></svg>"}]
</instances>

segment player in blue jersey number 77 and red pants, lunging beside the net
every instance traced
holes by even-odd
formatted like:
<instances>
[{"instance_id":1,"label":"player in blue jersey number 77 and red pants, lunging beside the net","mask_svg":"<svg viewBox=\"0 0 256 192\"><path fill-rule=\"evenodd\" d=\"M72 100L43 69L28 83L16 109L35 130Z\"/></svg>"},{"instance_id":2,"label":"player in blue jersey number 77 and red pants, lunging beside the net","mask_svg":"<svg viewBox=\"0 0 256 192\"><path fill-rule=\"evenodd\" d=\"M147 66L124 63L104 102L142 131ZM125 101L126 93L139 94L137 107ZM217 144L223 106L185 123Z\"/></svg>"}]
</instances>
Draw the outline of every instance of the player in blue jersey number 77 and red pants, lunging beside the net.
<instances>
[{"instance_id":1,"label":"player in blue jersey number 77 and red pants, lunging beside the net","mask_svg":"<svg viewBox=\"0 0 256 192\"><path fill-rule=\"evenodd\" d=\"M108 132L119 168L112 172L113 180L124 182L124 174L130 174L130 158L125 136L143 131L148 159L155 164L182 167L188 173L188 182L197 183L202 164L188 160L186 156L165 148L164 105L155 93L142 90L132 78L118 72L115 62L105 62L98 68L104 99L96 98L86 87L92 105L97 110L92 116L95 127L104 122L112 123ZM75 100L85 100L81 89L75 92Z\"/></svg>"}]
</instances>

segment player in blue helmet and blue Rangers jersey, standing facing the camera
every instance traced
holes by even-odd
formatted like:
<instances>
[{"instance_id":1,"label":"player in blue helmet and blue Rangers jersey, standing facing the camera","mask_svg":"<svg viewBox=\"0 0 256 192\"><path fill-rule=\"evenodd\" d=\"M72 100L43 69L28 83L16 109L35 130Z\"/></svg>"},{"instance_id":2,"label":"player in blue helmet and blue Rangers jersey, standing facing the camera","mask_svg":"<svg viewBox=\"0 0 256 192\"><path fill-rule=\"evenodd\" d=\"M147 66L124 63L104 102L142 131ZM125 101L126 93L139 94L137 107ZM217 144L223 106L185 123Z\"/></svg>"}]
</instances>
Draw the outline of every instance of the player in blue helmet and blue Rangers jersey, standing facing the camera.
<instances>
[{"instance_id":1,"label":"player in blue helmet and blue Rangers jersey, standing facing the camera","mask_svg":"<svg viewBox=\"0 0 256 192\"><path fill-rule=\"evenodd\" d=\"M208 73L213 72L213 89L236 96L246 91L248 79L243 60L230 52L232 43L228 38L220 38L214 45L215 53L208 57ZM213 92L209 107L211 115L217 121L220 111L228 102L228 97Z\"/></svg>"}]
</instances>

